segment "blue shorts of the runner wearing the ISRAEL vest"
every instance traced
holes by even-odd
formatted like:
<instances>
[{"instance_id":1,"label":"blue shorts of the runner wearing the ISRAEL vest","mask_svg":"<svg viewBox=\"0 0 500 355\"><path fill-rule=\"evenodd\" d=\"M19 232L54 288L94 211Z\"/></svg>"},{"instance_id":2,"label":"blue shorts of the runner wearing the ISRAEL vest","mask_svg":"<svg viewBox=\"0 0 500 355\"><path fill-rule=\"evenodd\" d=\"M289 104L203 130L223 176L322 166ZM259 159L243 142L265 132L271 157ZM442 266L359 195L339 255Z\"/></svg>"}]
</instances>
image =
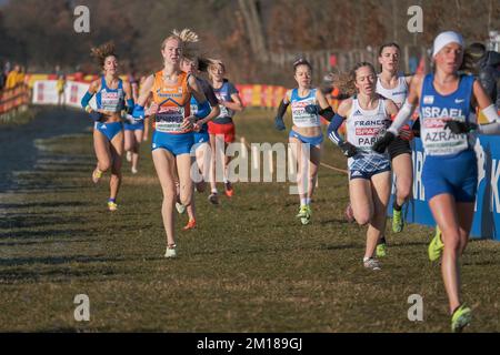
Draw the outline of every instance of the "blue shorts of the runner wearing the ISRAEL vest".
<instances>
[{"instance_id":1,"label":"blue shorts of the runner wearing the ISRAEL vest","mask_svg":"<svg viewBox=\"0 0 500 355\"><path fill-rule=\"evenodd\" d=\"M453 155L428 155L422 169L426 200L448 193L457 202L474 202L478 190L476 152L467 150Z\"/></svg>"}]
</instances>

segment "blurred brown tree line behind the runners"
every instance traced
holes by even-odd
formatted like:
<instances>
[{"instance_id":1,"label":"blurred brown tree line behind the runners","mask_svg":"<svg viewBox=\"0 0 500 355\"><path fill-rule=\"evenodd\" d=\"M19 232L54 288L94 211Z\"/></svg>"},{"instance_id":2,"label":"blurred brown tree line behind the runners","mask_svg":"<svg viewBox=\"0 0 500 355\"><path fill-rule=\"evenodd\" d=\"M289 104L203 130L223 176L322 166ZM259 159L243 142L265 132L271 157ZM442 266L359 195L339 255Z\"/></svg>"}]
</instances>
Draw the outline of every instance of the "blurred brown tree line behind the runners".
<instances>
[{"instance_id":1,"label":"blurred brown tree line behind the runners","mask_svg":"<svg viewBox=\"0 0 500 355\"><path fill-rule=\"evenodd\" d=\"M76 6L90 11L90 32L73 30ZM410 6L423 10L423 32L407 29ZM122 70L161 67L160 44L172 29L201 34L204 54L224 60L238 82L292 84L271 54L377 49L397 41L431 45L442 30L486 41L500 30L496 0L16 0L0 7L0 60L50 71L54 65L98 72L90 48L113 40ZM291 64L291 63L290 63ZM290 67L291 68L291 67Z\"/></svg>"}]
</instances>

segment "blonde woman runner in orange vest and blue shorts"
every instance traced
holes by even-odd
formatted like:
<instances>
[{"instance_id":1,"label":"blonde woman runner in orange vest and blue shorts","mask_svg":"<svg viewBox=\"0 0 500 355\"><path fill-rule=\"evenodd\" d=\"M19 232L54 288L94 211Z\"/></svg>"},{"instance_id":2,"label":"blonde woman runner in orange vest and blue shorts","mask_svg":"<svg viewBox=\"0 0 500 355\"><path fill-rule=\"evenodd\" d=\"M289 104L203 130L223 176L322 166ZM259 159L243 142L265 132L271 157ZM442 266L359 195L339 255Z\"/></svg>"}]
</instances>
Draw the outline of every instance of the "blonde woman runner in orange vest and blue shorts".
<instances>
[{"instance_id":1,"label":"blonde woman runner in orange vest and blue shorts","mask_svg":"<svg viewBox=\"0 0 500 355\"><path fill-rule=\"evenodd\" d=\"M191 204L191 148L194 144L193 123L207 116L210 105L198 85L194 77L181 71L184 42L179 32L173 31L161 45L163 70L149 75L142 85L132 116L144 119L144 104L152 97L158 105L154 114L154 132L152 136L152 158L161 189L163 203L161 214L167 234L166 257L176 257L174 204L177 187L174 171L179 175L179 193L184 206ZM199 102L196 115L190 113L190 99L194 95Z\"/></svg>"}]
</instances>

